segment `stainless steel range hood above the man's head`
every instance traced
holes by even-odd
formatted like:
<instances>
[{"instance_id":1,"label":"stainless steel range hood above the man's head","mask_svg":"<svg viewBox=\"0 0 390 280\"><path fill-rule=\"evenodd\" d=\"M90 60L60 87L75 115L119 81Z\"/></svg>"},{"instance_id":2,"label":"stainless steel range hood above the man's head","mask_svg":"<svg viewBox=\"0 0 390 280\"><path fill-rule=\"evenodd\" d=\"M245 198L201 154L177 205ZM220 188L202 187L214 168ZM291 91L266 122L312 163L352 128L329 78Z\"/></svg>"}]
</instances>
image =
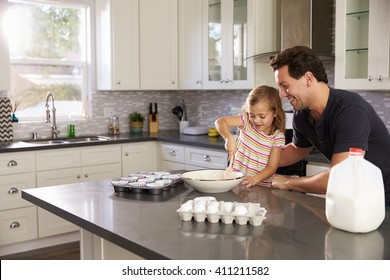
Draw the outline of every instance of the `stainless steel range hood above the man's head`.
<instances>
[{"instance_id":1,"label":"stainless steel range hood above the man's head","mask_svg":"<svg viewBox=\"0 0 390 280\"><path fill-rule=\"evenodd\" d=\"M280 5L280 47L308 46L322 58L331 58L334 32L333 0L278 0ZM281 50L249 58L269 62Z\"/></svg>"}]
</instances>

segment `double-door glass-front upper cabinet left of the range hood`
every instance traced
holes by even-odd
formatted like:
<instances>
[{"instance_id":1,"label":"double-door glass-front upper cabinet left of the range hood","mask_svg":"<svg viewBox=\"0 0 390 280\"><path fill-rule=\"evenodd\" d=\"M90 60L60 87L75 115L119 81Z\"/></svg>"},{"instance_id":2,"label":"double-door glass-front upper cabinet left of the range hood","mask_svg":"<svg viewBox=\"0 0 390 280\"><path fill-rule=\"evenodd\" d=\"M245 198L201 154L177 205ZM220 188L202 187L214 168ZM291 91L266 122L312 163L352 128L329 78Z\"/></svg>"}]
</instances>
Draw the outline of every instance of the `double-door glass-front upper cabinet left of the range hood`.
<instances>
[{"instance_id":1,"label":"double-door glass-front upper cabinet left of the range hood","mask_svg":"<svg viewBox=\"0 0 390 280\"><path fill-rule=\"evenodd\" d=\"M253 87L253 1L203 1L203 88Z\"/></svg>"}]
</instances>

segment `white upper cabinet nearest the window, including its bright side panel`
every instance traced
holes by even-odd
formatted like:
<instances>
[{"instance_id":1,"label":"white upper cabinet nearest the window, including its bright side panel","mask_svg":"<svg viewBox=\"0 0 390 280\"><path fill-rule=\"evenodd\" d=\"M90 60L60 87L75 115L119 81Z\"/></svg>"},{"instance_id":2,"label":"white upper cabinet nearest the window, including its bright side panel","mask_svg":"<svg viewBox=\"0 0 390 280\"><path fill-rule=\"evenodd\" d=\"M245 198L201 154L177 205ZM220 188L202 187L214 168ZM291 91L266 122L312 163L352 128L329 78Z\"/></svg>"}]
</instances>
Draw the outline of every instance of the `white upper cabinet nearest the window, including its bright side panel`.
<instances>
[{"instance_id":1,"label":"white upper cabinet nearest the window, including its bright side panel","mask_svg":"<svg viewBox=\"0 0 390 280\"><path fill-rule=\"evenodd\" d=\"M138 0L96 0L98 90L139 89Z\"/></svg>"}]
</instances>

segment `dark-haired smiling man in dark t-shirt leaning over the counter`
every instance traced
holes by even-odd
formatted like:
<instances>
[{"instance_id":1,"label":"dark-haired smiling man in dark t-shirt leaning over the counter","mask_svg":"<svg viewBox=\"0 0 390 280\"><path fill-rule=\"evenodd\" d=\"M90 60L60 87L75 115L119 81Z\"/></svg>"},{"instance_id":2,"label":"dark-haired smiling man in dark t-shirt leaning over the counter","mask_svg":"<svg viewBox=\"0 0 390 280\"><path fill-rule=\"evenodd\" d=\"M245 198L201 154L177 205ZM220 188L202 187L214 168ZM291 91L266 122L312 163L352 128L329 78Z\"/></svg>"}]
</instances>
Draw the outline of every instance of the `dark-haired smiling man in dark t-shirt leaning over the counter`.
<instances>
[{"instance_id":1,"label":"dark-haired smiling man in dark t-shirt leaning over the counter","mask_svg":"<svg viewBox=\"0 0 390 280\"><path fill-rule=\"evenodd\" d=\"M361 148L365 159L379 167L390 204L390 135L372 106L360 95L328 87L325 67L308 47L286 49L271 61L280 97L294 109L293 141L282 152L279 166L293 164L313 147L334 166L349 148ZM325 194L329 170L311 177L277 176L273 187Z\"/></svg>"}]
</instances>

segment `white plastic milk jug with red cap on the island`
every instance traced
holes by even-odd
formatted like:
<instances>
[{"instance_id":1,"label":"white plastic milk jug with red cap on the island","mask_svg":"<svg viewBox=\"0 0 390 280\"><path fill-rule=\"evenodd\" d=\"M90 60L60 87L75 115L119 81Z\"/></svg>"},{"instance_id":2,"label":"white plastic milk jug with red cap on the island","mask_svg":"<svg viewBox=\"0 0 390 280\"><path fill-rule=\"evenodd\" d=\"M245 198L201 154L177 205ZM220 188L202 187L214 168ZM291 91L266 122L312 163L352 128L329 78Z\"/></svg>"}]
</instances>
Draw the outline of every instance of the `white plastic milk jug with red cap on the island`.
<instances>
[{"instance_id":1,"label":"white plastic milk jug with red cap on the island","mask_svg":"<svg viewBox=\"0 0 390 280\"><path fill-rule=\"evenodd\" d=\"M382 172L364 159L362 149L351 148L349 157L331 168L325 212L333 227L349 232L373 231L383 222Z\"/></svg>"}]
</instances>

